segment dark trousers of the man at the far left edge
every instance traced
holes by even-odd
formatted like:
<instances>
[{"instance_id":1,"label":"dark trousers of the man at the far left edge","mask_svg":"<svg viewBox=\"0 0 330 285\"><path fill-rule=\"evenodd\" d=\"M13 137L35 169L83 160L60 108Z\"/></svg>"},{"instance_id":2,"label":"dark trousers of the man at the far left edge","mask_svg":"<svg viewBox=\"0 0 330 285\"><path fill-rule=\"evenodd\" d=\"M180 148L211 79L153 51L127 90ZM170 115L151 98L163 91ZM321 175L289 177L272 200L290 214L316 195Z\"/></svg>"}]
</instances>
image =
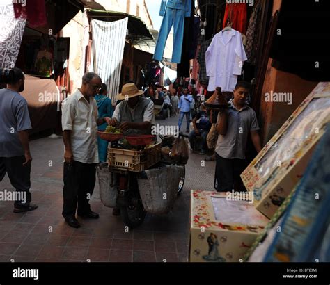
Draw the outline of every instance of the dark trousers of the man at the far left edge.
<instances>
[{"instance_id":1,"label":"dark trousers of the man at the far left edge","mask_svg":"<svg viewBox=\"0 0 330 285\"><path fill-rule=\"evenodd\" d=\"M15 208L29 206L31 202L31 164L23 166L25 156L0 157L0 181L8 174L10 184L17 192L26 192L26 201L15 201Z\"/></svg>"}]
</instances>

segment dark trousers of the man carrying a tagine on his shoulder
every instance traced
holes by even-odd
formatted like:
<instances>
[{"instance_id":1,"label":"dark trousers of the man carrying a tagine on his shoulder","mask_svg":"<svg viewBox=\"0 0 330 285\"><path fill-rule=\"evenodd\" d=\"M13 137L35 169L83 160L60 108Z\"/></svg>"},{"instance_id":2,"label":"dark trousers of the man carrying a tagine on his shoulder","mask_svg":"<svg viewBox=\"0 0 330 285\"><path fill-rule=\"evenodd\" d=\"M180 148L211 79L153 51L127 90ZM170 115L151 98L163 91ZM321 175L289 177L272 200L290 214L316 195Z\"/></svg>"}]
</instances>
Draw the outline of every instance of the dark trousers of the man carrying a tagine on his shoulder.
<instances>
[{"instance_id":1,"label":"dark trousers of the man carrying a tagine on his shoulder","mask_svg":"<svg viewBox=\"0 0 330 285\"><path fill-rule=\"evenodd\" d=\"M238 192L246 191L240 174L246 168L245 159L228 159L216 153L217 191L227 192L233 189Z\"/></svg>"}]
</instances>

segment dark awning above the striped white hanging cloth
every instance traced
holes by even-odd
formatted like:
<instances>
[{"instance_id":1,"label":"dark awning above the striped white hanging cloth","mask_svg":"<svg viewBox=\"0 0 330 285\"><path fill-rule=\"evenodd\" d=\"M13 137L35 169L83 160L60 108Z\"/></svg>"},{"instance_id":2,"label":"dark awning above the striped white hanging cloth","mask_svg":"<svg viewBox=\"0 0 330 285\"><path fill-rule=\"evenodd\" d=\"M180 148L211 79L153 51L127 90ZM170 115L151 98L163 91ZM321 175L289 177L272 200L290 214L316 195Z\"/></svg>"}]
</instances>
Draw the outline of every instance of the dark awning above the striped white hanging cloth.
<instances>
[{"instance_id":1,"label":"dark awning above the striped white hanging cloth","mask_svg":"<svg viewBox=\"0 0 330 285\"><path fill-rule=\"evenodd\" d=\"M101 21L117 21L118 19L124 19L128 17L128 35L127 40L129 42L137 42L143 39L153 39L152 34L148 30L146 24L139 18L127 13L115 12L115 11L103 11L103 10L93 10L87 9L87 15L93 19L98 19Z\"/></svg>"}]
</instances>

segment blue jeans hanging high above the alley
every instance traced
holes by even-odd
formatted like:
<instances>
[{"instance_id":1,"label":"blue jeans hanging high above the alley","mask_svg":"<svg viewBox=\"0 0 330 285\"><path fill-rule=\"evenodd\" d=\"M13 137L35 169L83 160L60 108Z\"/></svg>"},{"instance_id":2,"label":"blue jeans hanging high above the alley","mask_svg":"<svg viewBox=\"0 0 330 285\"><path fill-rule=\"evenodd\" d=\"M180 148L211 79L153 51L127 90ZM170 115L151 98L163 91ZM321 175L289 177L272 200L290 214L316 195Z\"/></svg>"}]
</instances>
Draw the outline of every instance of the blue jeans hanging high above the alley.
<instances>
[{"instance_id":1,"label":"blue jeans hanging high above the alley","mask_svg":"<svg viewBox=\"0 0 330 285\"><path fill-rule=\"evenodd\" d=\"M182 41L184 31L184 10L166 8L166 12L163 18L162 26L157 39L155 48L154 59L161 61L164 54L165 44L168 34L174 25L173 35L173 54L172 63L180 63L182 54Z\"/></svg>"}]
</instances>

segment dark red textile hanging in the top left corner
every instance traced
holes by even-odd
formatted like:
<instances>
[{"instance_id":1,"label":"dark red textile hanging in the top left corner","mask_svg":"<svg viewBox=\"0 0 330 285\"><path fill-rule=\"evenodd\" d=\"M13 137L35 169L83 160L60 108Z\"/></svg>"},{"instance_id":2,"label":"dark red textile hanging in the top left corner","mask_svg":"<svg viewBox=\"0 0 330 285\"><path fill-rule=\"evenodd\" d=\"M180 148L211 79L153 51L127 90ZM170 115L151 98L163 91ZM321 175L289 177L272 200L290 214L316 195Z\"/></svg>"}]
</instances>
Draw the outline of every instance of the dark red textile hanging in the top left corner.
<instances>
[{"instance_id":1,"label":"dark red textile hanging in the top left corner","mask_svg":"<svg viewBox=\"0 0 330 285\"><path fill-rule=\"evenodd\" d=\"M23 17L31 28L47 24L45 0L25 0L26 3L14 3L15 17Z\"/></svg>"}]
</instances>

